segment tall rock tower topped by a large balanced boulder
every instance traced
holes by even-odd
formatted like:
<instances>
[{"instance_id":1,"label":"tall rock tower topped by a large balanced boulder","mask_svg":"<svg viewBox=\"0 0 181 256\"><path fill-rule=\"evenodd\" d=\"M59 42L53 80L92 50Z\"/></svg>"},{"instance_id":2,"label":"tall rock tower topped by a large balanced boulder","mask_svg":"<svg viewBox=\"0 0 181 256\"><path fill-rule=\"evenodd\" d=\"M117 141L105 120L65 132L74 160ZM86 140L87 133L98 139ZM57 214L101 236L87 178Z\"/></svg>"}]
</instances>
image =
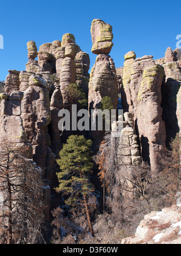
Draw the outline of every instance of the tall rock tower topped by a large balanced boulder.
<instances>
[{"instance_id":1,"label":"tall rock tower topped by a large balanced boulder","mask_svg":"<svg viewBox=\"0 0 181 256\"><path fill-rule=\"evenodd\" d=\"M103 97L110 97L112 106L117 109L118 104L118 79L115 63L108 55L112 49L112 26L100 19L94 19L91 25L92 53L97 54L95 64L90 72L89 80L89 113L91 109L100 108ZM91 138L97 143L102 138L102 132L91 132Z\"/></svg>"}]
</instances>

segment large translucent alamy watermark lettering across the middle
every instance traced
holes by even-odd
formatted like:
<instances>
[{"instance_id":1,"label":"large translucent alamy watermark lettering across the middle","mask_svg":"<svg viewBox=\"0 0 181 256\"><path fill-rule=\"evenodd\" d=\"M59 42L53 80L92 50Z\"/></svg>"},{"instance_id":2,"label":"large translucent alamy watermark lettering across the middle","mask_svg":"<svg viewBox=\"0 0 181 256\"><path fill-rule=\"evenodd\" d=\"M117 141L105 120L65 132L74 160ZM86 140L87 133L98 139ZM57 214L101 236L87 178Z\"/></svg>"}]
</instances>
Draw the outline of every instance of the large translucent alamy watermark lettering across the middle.
<instances>
[{"instance_id":1,"label":"large translucent alamy watermark lettering across the middle","mask_svg":"<svg viewBox=\"0 0 181 256\"><path fill-rule=\"evenodd\" d=\"M117 119L116 120L116 115ZM72 113L68 109L59 110L59 130L112 130L113 137L119 137L123 128L123 110L118 109L80 109L77 112L77 105L72 104Z\"/></svg>"}]
</instances>

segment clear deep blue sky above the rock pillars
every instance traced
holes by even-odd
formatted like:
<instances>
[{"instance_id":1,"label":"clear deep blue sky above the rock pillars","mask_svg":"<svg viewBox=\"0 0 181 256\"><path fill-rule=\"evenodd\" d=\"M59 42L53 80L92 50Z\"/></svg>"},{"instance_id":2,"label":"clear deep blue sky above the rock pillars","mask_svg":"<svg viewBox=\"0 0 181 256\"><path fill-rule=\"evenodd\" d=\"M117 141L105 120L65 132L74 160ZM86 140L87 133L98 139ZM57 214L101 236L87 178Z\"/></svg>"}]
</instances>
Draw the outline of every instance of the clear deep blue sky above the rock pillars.
<instances>
[{"instance_id":1,"label":"clear deep blue sky above the rock pillars","mask_svg":"<svg viewBox=\"0 0 181 256\"><path fill-rule=\"evenodd\" d=\"M168 46L176 48L176 36L181 34L180 7L180 0L1 0L4 50L0 49L0 80L5 80L8 69L25 70L29 40L36 41L39 49L42 43L62 40L65 33L74 34L81 50L89 53L92 67L96 59L91 53L93 19L102 19L113 27L110 56L116 67L123 65L124 54L132 50L136 57L164 57Z\"/></svg>"}]
</instances>

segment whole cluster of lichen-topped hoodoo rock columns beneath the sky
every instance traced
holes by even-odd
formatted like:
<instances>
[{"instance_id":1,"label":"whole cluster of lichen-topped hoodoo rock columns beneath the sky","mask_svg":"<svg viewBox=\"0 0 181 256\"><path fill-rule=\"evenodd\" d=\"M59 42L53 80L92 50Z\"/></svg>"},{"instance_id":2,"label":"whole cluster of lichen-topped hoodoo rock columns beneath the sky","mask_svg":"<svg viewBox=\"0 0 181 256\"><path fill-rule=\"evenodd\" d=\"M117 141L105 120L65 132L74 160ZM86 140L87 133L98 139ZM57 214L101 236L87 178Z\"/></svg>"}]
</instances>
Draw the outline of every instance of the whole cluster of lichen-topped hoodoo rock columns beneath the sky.
<instances>
[{"instance_id":1,"label":"whole cluster of lichen-topped hoodoo rock columns beneath the sky","mask_svg":"<svg viewBox=\"0 0 181 256\"><path fill-rule=\"evenodd\" d=\"M106 97L117 110L118 98L121 98L123 129L119 138L112 139L113 151L117 150L115 182L120 188L124 183L130 189L119 191L121 209L132 200L135 189L129 179L125 182L122 177L132 175L135 168L141 168L145 162L150 168L150 179L157 178L163 170L162 159L170 149L170 142L181 133L180 50L168 47L165 57L154 60L147 55L136 58L134 49L130 49L124 55L124 66L116 68L109 55L113 47L112 26L94 19L90 33L92 53L97 55L90 74L89 54L81 50L73 34L66 33L62 40L43 43L39 51L36 42L31 40L27 43L25 70L8 70L4 92L0 94L1 140L8 138L17 147L26 146L27 158L42 169L42 179L47 182L44 187L47 222L56 205L54 188L59 171L56 159L60 158L59 152L68 136L81 134L75 130L62 132L58 127L62 118L59 111L70 109L69 85L76 84L86 95L89 114L95 110L97 115ZM112 127L118 125L118 118L116 122ZM93 154L97 154L105 132L89 130L82 134L92 139ZM95 175L97 167L94 179ZM118 187L116 190L118 192ZM174 207L171 210L172 213L177 211ZM162 216L166 213L163 211ZM153 219L153 215L147 219ZM142 228L147 228L145 220ZM153 233L157 234L155 230ZM127 238L122 243L141 241L141 235L137 230L135 238Z\"/></svg>"}]
</instances>

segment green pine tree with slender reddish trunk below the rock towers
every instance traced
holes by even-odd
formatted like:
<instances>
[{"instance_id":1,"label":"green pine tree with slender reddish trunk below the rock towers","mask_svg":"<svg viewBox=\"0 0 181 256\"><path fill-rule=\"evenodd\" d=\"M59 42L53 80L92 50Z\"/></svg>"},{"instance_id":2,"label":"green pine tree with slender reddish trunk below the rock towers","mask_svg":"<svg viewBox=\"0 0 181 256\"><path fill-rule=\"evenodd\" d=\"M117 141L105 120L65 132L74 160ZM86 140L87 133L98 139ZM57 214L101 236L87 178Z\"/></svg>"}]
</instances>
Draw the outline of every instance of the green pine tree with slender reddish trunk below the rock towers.
<instances>
[{"instance_id":1,"label":"green pine tree with slender reddish trunk below the rock towers","mask_svg":"<svg viewBox=\"0 0 181 256\"><path fill-rule=\"evenodd\" d=\"M94 237L89 211L89 202L94 191L88 177L93 168L91 145L92 141L83 135L69 136L67 143L60 150L60 159L57 159L61 171L57 173L59 187L56 190L66 195L67 205L72 208L77 205L85 208L90 232Z\"/></svg>"}]
</instances>

